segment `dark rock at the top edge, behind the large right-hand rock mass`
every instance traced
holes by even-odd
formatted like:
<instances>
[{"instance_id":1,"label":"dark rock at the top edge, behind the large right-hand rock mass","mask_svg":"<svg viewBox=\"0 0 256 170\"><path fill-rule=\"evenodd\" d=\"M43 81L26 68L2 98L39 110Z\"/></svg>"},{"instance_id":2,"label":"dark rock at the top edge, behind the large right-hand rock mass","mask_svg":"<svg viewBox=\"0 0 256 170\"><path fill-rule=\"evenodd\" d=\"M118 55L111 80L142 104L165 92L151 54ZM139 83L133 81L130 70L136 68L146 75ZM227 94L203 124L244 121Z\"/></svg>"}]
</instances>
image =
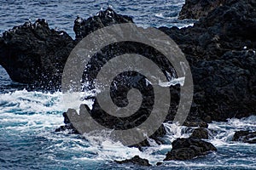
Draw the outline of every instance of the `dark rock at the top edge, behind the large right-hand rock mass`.
<instances>
[{"instance_id":1,"label":"dark rock at the top edge, behind the large right-hand rock mass","mask_svg":"<svg viewBox=\"0 0 256 170\"><path fill-rule=\"evenodd\" d=\"M178 18L200 19L207 16L212 9L222 6L225 0L186 0Z\"/></svg>"}]
</instances>

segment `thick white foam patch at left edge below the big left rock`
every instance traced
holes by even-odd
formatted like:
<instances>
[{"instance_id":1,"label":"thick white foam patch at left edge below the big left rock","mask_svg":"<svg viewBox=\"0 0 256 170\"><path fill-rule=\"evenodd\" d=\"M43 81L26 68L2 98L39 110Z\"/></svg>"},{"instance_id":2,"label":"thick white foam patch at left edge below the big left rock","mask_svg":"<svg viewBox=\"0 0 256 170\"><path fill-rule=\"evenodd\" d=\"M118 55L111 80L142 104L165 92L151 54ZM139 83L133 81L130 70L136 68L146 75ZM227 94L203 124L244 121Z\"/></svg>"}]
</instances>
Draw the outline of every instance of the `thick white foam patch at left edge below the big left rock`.
<instances>
[{"instance_id":1,"label":"thick white foam patch at left edge below the big left rock","mask_svg":"<svg viewBox=\"0 0 256 170\"><path fill-rule=\"evenodd\" d=\"M0 124L14 133L42 132L63 123L61 93L15 91L0 94Z\"/></svg>"}]
</instances>

